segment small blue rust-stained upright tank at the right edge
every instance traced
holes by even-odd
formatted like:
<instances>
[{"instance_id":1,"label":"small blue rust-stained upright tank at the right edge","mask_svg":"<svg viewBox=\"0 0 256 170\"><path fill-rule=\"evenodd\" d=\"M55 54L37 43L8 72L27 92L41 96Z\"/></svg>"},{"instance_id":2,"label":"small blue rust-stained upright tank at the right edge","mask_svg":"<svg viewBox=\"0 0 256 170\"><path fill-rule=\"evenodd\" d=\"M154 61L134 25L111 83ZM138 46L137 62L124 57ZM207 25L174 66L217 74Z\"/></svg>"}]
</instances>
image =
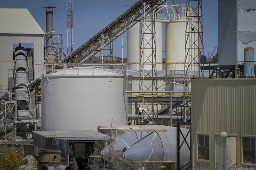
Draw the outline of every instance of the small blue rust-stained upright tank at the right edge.
<instances>
[{"instance_id":1,"label":"small blue rust-stained upright tank at the right edge","mask_svg":"<svg viewBox=\"0 0 256 170\"><path fill-rule=\"evenodd\" d=\"M244 77L255 77L254 74L254 48L244 48Z\"/></svg>"}]
</instances>

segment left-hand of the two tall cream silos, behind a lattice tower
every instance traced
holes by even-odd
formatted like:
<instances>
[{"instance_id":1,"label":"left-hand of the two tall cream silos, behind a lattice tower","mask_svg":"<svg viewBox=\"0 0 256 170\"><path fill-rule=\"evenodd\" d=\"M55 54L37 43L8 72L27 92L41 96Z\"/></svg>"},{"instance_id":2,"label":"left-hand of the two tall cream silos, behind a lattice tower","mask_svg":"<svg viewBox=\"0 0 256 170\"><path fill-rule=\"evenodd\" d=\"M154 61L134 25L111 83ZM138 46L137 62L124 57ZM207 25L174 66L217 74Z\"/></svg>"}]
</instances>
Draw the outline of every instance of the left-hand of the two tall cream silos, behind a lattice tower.
<instances>
[{"instance_id":1,"label":"left-hand of the two tall cream silos, behind a lattice tower","mask_svg":"<svg viewBox=\"0 0 256 170\"><path fill-rule=\"evenodd\" d=\"M163 53L163 34L162 34L162 22L156 20L155 21L155 41L156 47L156 62L157 70L162 70L162 53ZM151 20L145 20L145 70L151 70L152 65L152 34L151 33ZM140 44L142 43L142 35L141 35L141 27L142 22L136 23L127 31L127 63L128 63L128 70L140 70L140 57L141 57L141 48ZM153 30L154 32L154 30ZM143 43L142 43L143 45ZM149 57L149 60L147 60ZM143 62L141 62L143 63Z\"/></svg>"}]
</instances>

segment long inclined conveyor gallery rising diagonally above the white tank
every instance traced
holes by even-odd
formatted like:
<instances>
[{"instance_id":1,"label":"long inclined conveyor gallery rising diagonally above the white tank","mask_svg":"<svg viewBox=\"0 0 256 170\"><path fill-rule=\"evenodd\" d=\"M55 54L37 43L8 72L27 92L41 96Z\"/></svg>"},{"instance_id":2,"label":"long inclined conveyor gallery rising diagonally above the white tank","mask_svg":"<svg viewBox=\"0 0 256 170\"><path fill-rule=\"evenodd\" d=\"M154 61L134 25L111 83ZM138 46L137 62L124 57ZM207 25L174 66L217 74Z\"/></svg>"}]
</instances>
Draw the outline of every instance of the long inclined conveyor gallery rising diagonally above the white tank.
<instances>
[{"instance_id":1,"label":"long inclined conveyor gallery rising diagonally above the white tank","mask_svg":"<svg viewBox=\"0 0 256 170\"><path fill-rule=\"evenodd\" d=\"M72 53L61 59L61 63L79 63L84 62L94 54L98 53L101 48L101 36L104 35L104 46L108 45L111 40L115 40L129 28L140 21L142 16L143 2L146 4L145 14L149 14L152 10L151 4L155 4L155 8L162 5L166 0L138 0L125 12L123 12L116 20L113 20L98 33L94 34L89 40L84 42ZM50 71L47 71L49 73ZM38 88L41 91L41 79L35 79L29 85L30 91Z\"/></svg>"}]
</instances>

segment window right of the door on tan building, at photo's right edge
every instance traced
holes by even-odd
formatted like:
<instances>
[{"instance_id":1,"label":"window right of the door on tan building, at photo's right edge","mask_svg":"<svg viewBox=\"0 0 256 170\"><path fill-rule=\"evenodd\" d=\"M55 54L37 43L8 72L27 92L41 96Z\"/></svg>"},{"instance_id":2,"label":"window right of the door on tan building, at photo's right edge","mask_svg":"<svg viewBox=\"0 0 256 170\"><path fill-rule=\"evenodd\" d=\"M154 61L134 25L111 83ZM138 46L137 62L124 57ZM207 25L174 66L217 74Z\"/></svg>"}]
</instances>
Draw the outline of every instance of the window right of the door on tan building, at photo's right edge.
<instances>
[{"instance_id":1,"label":"window right of the door on tan building, at photo's right edge","mask_svg":"<svg viewBox=\"0 0 256 170\"><path fill-rule=\"evenodd\" d=\"M244 163L255 164L255 138L243 138Z\"/></svg>"}]
</instances>

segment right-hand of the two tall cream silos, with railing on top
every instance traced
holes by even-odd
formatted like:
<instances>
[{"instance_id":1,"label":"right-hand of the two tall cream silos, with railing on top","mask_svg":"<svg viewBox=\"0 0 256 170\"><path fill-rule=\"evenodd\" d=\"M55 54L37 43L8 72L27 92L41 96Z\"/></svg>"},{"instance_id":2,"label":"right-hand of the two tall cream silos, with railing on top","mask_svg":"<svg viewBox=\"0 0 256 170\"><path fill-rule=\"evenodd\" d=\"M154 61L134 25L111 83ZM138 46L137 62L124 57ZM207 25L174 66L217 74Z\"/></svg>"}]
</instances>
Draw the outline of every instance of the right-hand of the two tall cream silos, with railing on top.
<instances>
[{"instance_id":1,"label":"right-hand of the two tall cream silos, with railing on top","mask_svg":"<svg viewBox=\"0 0 256 170\"><path fill-rule=\"evenodd\" d=\"M172 17L172 20L166 22L166 70L184 70L185 67L186 6L178 7L184 8L183 10L180 9L180 11L183 11L182 14L179 14L180 17ZM172 15L175 16L176 14ZM196 23L197 22L192 22L192 25L197 26ZM191 34L190 43L197 40L194 36L198 36L198 34ZM189 43L186 45L186 48L188 47ZM198 56L198 50L191 50L190 56L194 55ZM188 64L187 59L186 65ZM198 66L195 65L195 68L193 66L193 70L198 70L196 67Z\"/></svg>"}]
</instances>

